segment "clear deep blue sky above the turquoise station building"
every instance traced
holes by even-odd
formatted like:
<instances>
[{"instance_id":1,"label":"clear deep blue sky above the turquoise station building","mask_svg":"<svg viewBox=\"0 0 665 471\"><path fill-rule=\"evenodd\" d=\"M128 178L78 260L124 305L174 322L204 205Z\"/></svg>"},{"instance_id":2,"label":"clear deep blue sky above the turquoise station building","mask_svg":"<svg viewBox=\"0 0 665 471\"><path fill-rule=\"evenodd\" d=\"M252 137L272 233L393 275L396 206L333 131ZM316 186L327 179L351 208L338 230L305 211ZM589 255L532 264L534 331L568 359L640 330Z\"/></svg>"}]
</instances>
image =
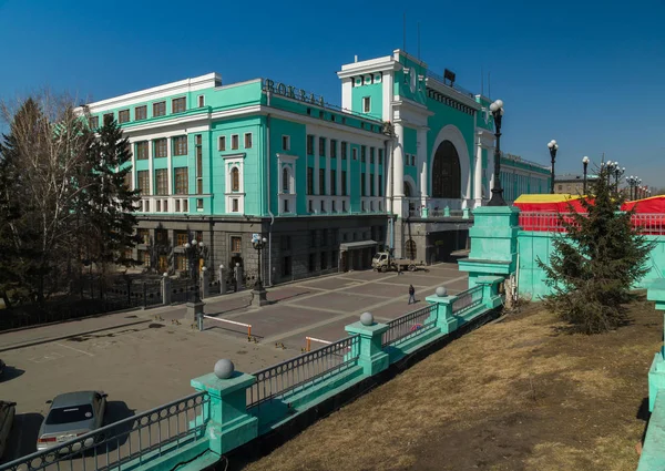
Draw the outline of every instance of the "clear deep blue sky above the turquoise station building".
<instances>
[{"instance_id":1,"label":"clear deep blue sky above the turquoise station building","mask_svg":"<svg viewBox=\"0 0 665 471\"><path fill-rule=\"evenodd\" d=\"M406 10L410 6L421 8ZM505 102L502 149L581 172L589 155L665 186L663 0L171 2L0 0L0 99L49 86L101 100L216 71L340 103L342 63L402 47Z\"/></svg>"}]
</instances>

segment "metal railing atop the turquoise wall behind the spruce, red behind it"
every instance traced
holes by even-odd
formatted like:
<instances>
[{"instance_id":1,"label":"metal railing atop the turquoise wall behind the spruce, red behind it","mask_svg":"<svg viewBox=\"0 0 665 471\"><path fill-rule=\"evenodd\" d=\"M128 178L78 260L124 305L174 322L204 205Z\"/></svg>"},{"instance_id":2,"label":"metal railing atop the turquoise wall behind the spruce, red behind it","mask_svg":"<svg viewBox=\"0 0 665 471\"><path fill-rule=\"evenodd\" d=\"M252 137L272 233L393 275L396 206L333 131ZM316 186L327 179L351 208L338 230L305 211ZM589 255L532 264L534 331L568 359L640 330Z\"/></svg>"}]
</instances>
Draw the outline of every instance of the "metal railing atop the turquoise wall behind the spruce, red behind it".
<instances>
[{"instance_id":1,"label":"metal railing atop the turquoise wall behind the spruce, red behind it","mask_svg":"<svg viewBox=\"0 0 665 471\"><path fill-rule=\"evenodd\" d=\"M564 233L566 227L564 222L579 226L575 222L574 213L555 212L522 212L520 213L519 224L522 231L541 231L552 233ZM586 217L587 213L577 213ZM634 228L640 228L642 234L663 235L665 234L665 214L635 213L631 217Z\"/></svg>"}]
</instances>

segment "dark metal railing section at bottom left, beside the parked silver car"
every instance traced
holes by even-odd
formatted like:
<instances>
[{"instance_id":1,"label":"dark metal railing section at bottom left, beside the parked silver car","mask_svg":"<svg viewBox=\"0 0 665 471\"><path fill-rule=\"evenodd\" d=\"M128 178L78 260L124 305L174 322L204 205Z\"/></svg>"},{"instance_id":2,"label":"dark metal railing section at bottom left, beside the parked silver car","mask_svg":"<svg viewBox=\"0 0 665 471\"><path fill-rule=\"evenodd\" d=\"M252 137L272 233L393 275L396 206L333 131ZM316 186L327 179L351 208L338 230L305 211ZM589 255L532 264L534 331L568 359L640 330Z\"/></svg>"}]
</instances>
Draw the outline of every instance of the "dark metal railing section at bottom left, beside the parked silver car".
<instances>
[{"instance_id":1,"label":"dark metal railing section at bottom left, beside the parked silver car","mask_svg":"<svg viewBox=\"0 0 665 471\"><path fill-rule=\"evenodd\" d=\"M0 471L121 470L130 461L147 462L204 434L209 396L196 392L44 451L0 464Z\"/></svg>"}]
</instances>

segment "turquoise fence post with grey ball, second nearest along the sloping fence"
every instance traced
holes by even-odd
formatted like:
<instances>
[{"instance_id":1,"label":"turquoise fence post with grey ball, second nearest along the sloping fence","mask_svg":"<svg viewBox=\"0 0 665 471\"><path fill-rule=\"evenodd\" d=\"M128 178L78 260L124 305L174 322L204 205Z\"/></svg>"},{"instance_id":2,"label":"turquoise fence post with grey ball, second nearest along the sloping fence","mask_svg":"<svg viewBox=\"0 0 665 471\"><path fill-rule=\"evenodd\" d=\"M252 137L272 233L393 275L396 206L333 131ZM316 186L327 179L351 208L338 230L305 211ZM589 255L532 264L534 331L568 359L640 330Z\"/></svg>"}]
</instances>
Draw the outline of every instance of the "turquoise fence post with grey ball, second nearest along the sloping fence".
<instances>
[{"instance_id":1,"label":"turquoise fence post with grey ball, second nearest along the sloping fence","mask_svg":"<svg viewBox=\"0 0 665 471\"><path fill-rule=\"evenodd\" d=\"M376 375L390 365L390 358L381 347L383 332L389 328L386 324L375 322L369 313L362 314L359 321L345 327L349 335L360 336L358 365L362 367L364 375Z\"/></svg>"}]
</instances>

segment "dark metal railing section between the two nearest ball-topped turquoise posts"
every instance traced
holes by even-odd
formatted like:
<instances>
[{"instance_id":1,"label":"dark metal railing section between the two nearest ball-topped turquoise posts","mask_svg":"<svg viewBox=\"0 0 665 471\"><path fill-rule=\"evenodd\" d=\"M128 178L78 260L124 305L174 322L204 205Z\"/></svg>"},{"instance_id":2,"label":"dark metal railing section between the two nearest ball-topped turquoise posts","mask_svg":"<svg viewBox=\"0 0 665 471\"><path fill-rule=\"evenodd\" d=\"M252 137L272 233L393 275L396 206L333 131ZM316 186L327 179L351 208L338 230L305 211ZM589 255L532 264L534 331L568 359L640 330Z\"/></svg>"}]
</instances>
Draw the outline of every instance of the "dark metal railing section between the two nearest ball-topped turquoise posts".
<instances>
[{"instance_id":1,"label":"dark metal railing section between the two nearest ball-topped turquoise posts","mask_svg":"<svg viewBox=\"0 0 665 471\"><path fill-rule=\"evenodd\" d=\"M296 393L317 380L356 365L360 338L351 336L253 373L256 382L247 388L247 409Z\"/></svg>"}]
</instances>

